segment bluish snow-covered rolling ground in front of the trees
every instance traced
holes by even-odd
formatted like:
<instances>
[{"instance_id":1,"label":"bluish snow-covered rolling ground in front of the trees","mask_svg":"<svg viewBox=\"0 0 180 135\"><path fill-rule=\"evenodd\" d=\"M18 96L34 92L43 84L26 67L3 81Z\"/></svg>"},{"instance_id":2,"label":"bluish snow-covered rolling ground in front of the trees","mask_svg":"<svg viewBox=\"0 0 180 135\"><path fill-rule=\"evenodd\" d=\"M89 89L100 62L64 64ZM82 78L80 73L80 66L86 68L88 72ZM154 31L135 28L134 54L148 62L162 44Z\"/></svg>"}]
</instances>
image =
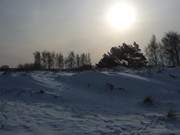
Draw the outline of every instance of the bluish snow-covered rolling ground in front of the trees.
<instances>
[{"instance_id":1,"label":"bluish snow-covered rolling ground in front of the trees","mask_svg":"<svg viewBox=\"0 0 180 135\"><path fill-rule=\"evenodd\" d=\"M179 135L179 112L180 68L0 74L0 135Z\"/></svg>"}]
</instances>

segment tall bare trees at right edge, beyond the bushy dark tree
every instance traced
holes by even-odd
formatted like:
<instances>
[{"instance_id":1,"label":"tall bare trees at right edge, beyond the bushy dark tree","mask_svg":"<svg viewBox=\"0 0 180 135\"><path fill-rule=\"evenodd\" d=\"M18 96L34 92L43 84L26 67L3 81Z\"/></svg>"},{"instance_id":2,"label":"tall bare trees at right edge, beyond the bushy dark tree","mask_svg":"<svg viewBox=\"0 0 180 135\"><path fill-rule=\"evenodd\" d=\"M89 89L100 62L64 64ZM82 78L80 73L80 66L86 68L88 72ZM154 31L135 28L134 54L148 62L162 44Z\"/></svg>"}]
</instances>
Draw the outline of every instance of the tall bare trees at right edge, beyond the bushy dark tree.
<instances>
[{"instance_id":1,"label":"tall bare trees at right edge, beyond the bushy dark tree","mask_svg":"<svg viewBox=\"0 0 180 135\"><path fill-rule=\"evenodd\" d=\"M161 41L153 35L145 49L150 66L180 66L180 35L177 32L168 32Z\"/></svg>"}]
</instances>

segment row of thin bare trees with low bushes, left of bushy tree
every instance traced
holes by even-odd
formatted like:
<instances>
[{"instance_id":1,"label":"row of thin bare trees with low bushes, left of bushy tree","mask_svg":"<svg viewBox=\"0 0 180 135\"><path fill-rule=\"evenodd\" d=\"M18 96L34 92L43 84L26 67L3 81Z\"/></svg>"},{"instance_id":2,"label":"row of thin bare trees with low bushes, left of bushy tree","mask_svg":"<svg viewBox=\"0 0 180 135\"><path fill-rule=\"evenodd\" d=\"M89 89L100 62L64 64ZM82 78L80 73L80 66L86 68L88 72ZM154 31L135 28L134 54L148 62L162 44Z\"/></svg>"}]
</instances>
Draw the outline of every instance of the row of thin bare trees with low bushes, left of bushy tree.
<instances>
[{"instance_id":1,"label":"row of thin bare trees with low bushes, left of bushy tree","mask_svg":"<svg viewBox=\"0 0 180 135\"><path fill-rule=\"evenodd\" d=\"M72 70L90 68L92 65L90 53L75 54L71 51L67 57L65 57L60 52L35 51L33 56L33 63L20 64L17 68L22 70Z\"/></svg>"}]
</instances>

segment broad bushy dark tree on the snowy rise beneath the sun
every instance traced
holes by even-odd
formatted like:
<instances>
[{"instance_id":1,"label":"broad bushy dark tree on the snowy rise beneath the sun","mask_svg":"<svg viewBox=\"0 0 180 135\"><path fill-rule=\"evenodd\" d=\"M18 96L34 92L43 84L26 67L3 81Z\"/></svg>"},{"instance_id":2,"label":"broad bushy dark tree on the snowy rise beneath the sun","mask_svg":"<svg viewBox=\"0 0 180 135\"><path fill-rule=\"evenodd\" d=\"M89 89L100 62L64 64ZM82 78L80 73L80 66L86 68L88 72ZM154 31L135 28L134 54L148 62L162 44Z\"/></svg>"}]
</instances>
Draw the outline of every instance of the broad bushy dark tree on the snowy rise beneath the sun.
<instances>
[{"instance_id":1,"label":"broad bushy dark tree on the snowy rise beneath the sun","mask_svg":"<svg viewBox=\"0 0 180 135\"><path fill-rule=\"evenodd\" d=\"M139 45L134 42L133 45L123 43L122 46L112 47L110 52L105 54L98 67L126 66L140 68L147 63L145 56L141 53Z\"/></svg>"}]
</instances>

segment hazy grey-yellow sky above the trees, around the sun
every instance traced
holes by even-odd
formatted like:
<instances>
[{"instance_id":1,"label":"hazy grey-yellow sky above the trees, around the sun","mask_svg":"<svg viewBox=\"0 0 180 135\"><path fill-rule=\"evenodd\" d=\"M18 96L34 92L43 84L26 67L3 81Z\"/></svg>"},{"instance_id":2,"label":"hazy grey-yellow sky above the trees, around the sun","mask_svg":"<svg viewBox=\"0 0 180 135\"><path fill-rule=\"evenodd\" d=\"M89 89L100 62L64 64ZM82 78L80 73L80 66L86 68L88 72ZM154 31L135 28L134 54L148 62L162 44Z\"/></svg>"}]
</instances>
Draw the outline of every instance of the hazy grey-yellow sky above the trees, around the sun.
<instances>
[{"instance_id":1,"label":"hazy grey-yellow sky above the trees, around the sun","mask_svg":"<svg viewBox=\"0 0 180 135\"><path fill-rule=\"evenodd\" d=\"M136 9L128 30L106 20L109 8L125 1ZM90 52L93 62L111 46L152 34L180 31L180 0L0 0L0 65L32 61L35 50Z\"/></svg>"}]
</instances>

